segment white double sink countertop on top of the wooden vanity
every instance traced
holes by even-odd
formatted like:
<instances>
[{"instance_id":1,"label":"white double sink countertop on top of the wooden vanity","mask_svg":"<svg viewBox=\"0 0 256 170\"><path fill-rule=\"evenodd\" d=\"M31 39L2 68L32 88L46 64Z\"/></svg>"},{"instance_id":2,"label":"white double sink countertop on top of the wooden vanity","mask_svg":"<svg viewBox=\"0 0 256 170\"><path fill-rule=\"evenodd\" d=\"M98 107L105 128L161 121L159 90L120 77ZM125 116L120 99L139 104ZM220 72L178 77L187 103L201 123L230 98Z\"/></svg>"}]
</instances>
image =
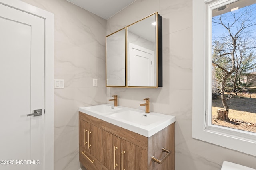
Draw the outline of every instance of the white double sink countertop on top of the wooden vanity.
<instances>
[{"instance_id":1,"label":"white double sink countertop on top of the wooden vanity","mask_svg":"<svg viewBox=\"0 0 256 170\"><path fill-rule=\"evenodd\" d=\"M79 111L145 137L154 135L176 121L176 118L171 115L145 113L144 110L114 107L111 104L80 107Z\"/></svg>"}]
</instances>

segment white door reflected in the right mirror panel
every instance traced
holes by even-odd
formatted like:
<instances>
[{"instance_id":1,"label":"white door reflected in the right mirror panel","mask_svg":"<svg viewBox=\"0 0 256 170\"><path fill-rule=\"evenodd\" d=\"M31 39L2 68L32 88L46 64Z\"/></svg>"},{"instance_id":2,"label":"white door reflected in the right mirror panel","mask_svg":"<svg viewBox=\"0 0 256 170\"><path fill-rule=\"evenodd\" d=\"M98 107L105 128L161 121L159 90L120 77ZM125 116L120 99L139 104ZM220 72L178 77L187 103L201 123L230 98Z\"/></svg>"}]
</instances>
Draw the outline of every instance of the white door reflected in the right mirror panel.
<instances>
[{"instance_id":1,"label":"white door reflected in the right mirror panel","mask_svg":"<svg viewBox=\"0 0 256 170\"><path fill-rule=\"evenodd\" d=\"M156 86L154 51L129 43L128 86Z\"/></svg>"}]
</instances>

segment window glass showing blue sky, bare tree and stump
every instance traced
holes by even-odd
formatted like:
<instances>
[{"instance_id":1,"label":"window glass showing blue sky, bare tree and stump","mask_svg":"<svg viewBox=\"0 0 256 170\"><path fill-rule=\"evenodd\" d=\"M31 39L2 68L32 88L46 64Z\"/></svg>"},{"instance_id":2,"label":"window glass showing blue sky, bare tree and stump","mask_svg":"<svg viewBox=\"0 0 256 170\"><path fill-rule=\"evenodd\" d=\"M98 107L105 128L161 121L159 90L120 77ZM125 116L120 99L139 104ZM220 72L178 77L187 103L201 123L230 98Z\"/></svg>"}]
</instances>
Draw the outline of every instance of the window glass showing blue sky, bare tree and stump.
<instances>
[{"instance_id":1,"label":"window glass showing blue sky, bare tree and stump","mask_svg":"<svg viewBox=\"0 0 256 170\"><path fill-rule=\"evenodd\" d=\"M252 4L251 4L252 3ZM212 11L211 124L256 133L256 4L239 0Z\"/></svg>"}]
</instances>

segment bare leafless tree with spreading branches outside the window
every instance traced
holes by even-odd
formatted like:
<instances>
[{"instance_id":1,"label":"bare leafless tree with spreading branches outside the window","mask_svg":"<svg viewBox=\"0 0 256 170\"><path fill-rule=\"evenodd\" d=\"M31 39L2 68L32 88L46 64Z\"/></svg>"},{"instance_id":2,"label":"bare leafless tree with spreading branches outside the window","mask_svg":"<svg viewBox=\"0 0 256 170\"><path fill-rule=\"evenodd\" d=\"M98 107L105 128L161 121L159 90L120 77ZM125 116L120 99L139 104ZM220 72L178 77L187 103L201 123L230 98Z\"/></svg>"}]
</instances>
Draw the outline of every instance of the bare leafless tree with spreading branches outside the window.
<instances>
[{"instance_id":1,"label":"bare leafless tree with spreading branches outside the window","mask_svg":"<svg viewBox=\"0 0 256 170\"><path fill-rule=\"evenodd\" d=\"M240 9L240 13L229 12L214 17L212 24L223 29L222 35L215 37L218 40L212 43L212 64L220 70L218 76L221 100L224 109L228 111L225 96L228 81L233 82L232 91L235 92L241 74L255 67L252 50L256 47L256 16L253 9L248 6Z\"/></svg>"}]
</instances>

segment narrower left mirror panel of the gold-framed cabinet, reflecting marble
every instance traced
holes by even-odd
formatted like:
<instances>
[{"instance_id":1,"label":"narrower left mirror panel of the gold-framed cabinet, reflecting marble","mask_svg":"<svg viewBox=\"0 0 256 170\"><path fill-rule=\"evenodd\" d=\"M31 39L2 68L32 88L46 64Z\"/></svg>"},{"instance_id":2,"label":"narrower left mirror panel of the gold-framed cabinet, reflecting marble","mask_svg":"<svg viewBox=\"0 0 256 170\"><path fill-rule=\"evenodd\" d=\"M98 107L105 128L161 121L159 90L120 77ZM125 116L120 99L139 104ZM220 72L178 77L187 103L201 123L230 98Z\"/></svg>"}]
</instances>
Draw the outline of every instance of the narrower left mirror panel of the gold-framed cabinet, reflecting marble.
<instances>
[{"instance_id":1,"label":"narrower left mirror panel of the gold-framed cabinet, reflecting marble","mask_svg":"<svg viewBox=\"0 0 256 170\"><path fill-rule=\"evenodd\" d=\"M106 86L125 84L125 29L106 36Z\"/></svg>"}]
</instances>

